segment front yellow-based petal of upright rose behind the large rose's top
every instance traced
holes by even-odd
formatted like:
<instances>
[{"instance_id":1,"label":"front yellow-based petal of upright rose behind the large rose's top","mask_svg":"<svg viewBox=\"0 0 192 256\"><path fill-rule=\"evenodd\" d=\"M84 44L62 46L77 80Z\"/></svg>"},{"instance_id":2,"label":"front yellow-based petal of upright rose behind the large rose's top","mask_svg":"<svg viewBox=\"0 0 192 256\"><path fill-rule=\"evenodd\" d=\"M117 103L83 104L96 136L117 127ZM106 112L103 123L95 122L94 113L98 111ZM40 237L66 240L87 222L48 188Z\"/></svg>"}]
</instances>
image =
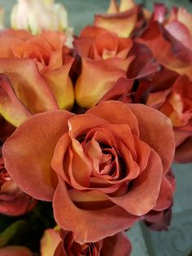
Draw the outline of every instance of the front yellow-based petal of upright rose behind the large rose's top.
<instances>
[{"instance_id":1,"label":"front yellow-based petal of upright rose behind the large rose's top","mask_svg":"<svg viewBox=\"0 0 192 256\"><path fill-rule=\"evenodd\" d=\"M108 60L82 59L81 76L76 82L76 101L82 108L93 107L111 89L120 77L126 77L126 70L132 59Z\"/></svg>"}]
</instances>

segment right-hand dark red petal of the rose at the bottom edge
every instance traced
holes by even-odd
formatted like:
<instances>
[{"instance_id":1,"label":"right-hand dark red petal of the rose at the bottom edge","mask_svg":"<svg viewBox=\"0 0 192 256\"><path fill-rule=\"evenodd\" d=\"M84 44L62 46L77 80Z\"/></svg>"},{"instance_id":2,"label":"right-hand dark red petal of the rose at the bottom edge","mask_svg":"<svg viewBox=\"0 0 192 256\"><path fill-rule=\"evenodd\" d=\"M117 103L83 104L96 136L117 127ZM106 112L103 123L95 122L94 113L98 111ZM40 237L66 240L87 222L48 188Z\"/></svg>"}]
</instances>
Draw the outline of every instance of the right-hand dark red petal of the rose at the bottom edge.
<instances>
[{"instance_id":1,"label":"right-hand dark red petal of the rose at the bottom edge","mask_svg":"<svg viewBox=\"0 0 192 256\"><path fill-rule=\"evenodd\" d=\"M124 232L103 239L101 255L103 256L129 256L131 243Z\"/></svg>"}]
</instances>

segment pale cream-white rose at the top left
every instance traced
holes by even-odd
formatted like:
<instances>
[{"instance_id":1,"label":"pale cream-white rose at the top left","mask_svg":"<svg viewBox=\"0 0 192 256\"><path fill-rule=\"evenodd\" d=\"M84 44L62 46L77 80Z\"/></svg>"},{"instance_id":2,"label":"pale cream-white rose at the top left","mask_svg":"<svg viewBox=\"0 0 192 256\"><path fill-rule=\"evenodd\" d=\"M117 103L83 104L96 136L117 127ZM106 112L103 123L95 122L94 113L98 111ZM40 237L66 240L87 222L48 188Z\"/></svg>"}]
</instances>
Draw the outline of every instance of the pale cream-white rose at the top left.
<instances>
[{"instance_id":1,"label":"pale cream-white rose at the top left","mask_svg":"<svg viewBox=\"0 0 192 256\"><path fill-rule=\"evenodd\" d=\"M11 11L11 27L34 35L43 30L68 29L68 12L54 0L18 0Z\"/></svg>"}]
</instances>

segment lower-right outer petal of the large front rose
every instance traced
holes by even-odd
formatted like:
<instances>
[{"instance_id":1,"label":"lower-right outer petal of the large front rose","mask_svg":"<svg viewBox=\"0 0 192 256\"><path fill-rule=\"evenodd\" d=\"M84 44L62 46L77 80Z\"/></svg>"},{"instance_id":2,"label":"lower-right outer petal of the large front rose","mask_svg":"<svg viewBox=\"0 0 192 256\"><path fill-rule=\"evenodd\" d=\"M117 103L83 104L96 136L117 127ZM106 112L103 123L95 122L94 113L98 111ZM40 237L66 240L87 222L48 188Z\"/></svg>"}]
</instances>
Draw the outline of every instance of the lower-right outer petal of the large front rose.
<instances>
[{"instance_id":1,"label":"lower-right outer petal of the large front rose","mask_svg":"<svg viewBox=\"0 0 192 256\"><path fill-rule=\"evenodd\" d=\"M155 171L154 171L155 170ZM133 180L129 192L124 196L108 198L130 214L142 216L152 210L159 196L162 166L159 156L151 150L146 170Z\"/></svg>"}]
</instances>

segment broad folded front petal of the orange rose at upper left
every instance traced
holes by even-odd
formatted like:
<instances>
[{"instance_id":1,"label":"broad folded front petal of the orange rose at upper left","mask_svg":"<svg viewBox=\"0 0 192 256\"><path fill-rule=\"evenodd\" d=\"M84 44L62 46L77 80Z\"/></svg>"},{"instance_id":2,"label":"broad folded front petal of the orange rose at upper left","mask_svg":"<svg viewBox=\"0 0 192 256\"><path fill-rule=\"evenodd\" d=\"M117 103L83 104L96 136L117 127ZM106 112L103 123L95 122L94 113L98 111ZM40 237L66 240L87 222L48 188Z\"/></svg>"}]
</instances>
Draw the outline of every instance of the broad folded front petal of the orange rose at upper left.
<instances>
[{"instance_id":1,"label":"broad folded front petal of the orange rose at upper left","mask_svg":"<svg viewBox=\"0 0 192 256\"><path fill-rule=\"evenodd\" d=\"M33 60L0 59L0 73L7 75L15 94L31 113L59 108Z\"/></svg>"}]
</instances>

